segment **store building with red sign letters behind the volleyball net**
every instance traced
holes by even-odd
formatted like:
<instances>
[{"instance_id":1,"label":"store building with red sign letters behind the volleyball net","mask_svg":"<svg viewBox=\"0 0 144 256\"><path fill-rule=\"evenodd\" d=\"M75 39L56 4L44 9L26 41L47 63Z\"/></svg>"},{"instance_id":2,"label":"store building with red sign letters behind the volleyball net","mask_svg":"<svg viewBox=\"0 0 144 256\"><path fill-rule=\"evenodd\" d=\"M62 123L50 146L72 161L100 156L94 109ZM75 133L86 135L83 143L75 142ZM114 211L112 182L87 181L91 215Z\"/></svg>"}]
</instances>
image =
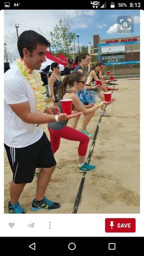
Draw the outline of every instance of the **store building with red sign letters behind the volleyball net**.
<instances>
[{"instance_id":1,"label":"store building with red sign letters behind the volleyball net","mask_svg":"<svg viewBox=\"0 0 144 256\"><path fill-rule=\"evenodd\" d=\"M127 42L137 42L129 43ZM101 39L99 35L93 35L93 48L97 48L98 44L109 43L112 45L104 45L99 48L101 54L101 61L104 63L112 62L128 62L128 61L139 61L140 60L140 36L131 37L120 37ZM116 44L118 43L118 45ZM120 44L122 43L122 44ZM125 43L125 44L124 44ZM98 49L94 50L95 53Z\"/></svg>"}]
</instances>

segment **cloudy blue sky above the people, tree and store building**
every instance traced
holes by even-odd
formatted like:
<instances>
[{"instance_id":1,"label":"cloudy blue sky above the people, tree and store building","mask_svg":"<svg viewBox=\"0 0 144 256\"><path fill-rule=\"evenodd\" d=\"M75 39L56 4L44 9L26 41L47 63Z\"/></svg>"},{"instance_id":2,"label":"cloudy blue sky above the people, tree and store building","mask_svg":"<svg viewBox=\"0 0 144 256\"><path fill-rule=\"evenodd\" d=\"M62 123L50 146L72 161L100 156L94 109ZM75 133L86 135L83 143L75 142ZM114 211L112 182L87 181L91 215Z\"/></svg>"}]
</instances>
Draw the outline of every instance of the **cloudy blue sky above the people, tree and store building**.
<instances>
[{"instance_id":1,"label":"cloudy blue sky above the people, tree and store building","mask_svg":"<svg viewBox=\"0 0 144 256\"><path fill-rule=\"evenodd\" d=\"M134 16L132 35L140 34L139 10L5 10L4 42L7 43L8 53L18 57L15 23L20 24L19 35L32 29L50 40L49 32L68 15L73 20L71 31L79 35L80 45L88 45L88 42L93 45L93 34L99 34L102 39L131 36L131 33L117 33L118 16ZM75 43L77 46L77 38Z\"/></svg>"}]
</instances>

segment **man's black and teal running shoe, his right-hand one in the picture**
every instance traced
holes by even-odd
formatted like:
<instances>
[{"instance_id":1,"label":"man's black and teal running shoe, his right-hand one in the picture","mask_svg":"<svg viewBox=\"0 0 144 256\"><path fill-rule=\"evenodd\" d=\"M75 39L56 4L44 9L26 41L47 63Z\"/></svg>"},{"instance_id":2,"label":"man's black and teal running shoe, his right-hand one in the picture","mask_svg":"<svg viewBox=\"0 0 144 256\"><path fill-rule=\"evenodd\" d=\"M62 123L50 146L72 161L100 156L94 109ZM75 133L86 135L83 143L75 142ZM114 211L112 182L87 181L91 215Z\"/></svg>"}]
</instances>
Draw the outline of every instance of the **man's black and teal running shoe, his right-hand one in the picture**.
<instances>
[{"instance_id":1,"label":"man's black and teal running shoe, his right-hand one in the picture","mask_svg":"<svg viewBox=\"0 0 144 256\"><path fill-rule=\"evenodd\" d=\"M48 200L46 197L44 197L41 203L37 203L37 201L34 199L32 201L32 206L31 206L32 211L39 211L40 209L52 210L57 208L60 208L60 204L56 202L52 202L51 200Z\"/></svg>"}]
</instances>

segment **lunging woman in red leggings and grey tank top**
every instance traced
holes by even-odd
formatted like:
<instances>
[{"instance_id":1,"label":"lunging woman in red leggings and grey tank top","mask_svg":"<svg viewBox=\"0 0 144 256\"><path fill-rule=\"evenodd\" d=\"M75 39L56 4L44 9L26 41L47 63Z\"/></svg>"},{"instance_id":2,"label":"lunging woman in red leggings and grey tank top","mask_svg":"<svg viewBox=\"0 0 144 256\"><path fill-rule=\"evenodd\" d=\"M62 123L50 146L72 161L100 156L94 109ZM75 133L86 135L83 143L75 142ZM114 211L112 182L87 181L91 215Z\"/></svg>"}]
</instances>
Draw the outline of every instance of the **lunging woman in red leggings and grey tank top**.
<instances>
[{"instance_id":1,"label":"lunging woman in red leggings and grey tank top","mask_svg":"<svg viewBox=\"0 0 144 256\"><path fill-rule=\"evenodd\" d=\"M79 92L79 90L82 90L84 86L85 86L85 76L83 73L79 71L74 71L69 76L66 76L65 79L63 79L63 82L59 87L59 103L57 105L60 108L61 112L62 112L62 108L61 108L60 100L62 100L63 98L72 99L73 106L77 109L78 112L82 111L84 115L91 114L92 112L96 111L96 109L101 108L101 104L110 104L111 102L114 101L113 99L109 101L109 103L106 101L102 101L97 105L89 104L87 106L84 106L76 95L76 93ZM59 149L61 137L63 139L68 139L70 141L79 141L80 144L78 148L78 155L79 155L78 171L90 172L90 170L94 170L96 166L92 166L85 162L85 155L87 153L87 147L89 142L88 136L85 135L84 133L81 133L81 131L77 131L76 129L71 128L70 126L67 126L67 123L68 123L68 120L60 121L60 122L59 120L57 120L57 122L55 123L48 124L52 152L56 153L56 151Z\"/></svg>"}]
</instances>

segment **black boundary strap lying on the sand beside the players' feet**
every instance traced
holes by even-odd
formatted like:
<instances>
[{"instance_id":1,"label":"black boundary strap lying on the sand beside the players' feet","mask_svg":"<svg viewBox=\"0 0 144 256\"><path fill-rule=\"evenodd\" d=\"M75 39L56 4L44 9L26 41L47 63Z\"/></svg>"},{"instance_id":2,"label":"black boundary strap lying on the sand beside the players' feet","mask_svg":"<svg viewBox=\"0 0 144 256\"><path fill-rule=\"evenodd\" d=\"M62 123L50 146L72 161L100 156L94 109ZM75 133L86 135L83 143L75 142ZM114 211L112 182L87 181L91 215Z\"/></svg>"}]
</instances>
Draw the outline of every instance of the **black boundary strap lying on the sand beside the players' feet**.
<instances>
[{"instance_id":1,"label":"black boundary strap lying on the sand beside the players' feet","mask_svg":"<svg viewBox=\"0 0 144 256\"><path fill-rule=\"evenodd\" d=\"M106 105L107 106L107 105ZM104 109L106 109L106 106ZM95 141L96 141L96 137L97 137L97 134L98 134L98 130L99 130L99 123L101 123L101 119L102 119L103 115L101 115L99 117L99 120L98 120L98 124L96 126L96 130L95 130L95 134L93 136L93 141L92 141L92 145L91 145L91 148L90 148L90 152L88 154L88 158L87 158L87 163L89 164L90 163L90 159L92 157L92 153L93 153L93 148L95 147ZM76 196L76 200L74 202L74 207L73 207L73 212L72 213L77 213L77 210L78 210L78 207L79 207L79 202L80 202L80 199L81 199L81 194L82 194L82 189L83 189L83 186L84 186L84 181L85 181L85 175L87 174L87 172L84 172L83 176L82 176L82 179L81 179L81 183L79 185L79 190L77 192L77 196Z\"/></svg>"}]
</instances>

